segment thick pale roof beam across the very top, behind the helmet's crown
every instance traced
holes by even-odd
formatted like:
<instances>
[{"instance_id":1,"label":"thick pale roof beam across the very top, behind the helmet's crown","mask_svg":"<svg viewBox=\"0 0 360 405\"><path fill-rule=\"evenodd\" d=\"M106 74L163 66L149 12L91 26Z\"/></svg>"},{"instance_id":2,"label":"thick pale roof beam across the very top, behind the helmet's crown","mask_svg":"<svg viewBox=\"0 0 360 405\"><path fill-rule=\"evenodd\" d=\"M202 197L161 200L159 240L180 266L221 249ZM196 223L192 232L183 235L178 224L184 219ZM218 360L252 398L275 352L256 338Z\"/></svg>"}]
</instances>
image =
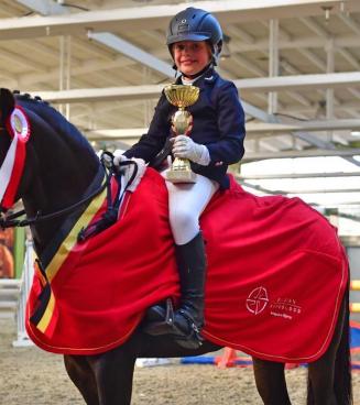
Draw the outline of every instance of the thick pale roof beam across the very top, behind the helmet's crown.
<instances>
[{"instance_id":1,"label":"thick pale roof beam across the very top, behind the helmet's crown","mask_svg":"<svg viewBox=\"0 0 360 405\"><path fill-rule=\"evenodd\" d=\"M226 25L232 22L249 22L272 18L292 18L320 15L321 7L331 7L331 12L340 12L343 0L242 0L240 1L196 1L195 7L216 13ZM28 2L29 3L29 2ZM40 1L33 1L37 7ZM359 11L358 0L347 0L347 11ZM0 21L1 40L24 39L48 35L86 34L94 32L134 30L146 26L165 28L170 18L189 7L189 2L179 4L145 6L113 10L97 10L72 13L68 15L40 17L33 19L2 19ZM46 12L46 10L44 9Z\"/></svg>"}]
</instances>

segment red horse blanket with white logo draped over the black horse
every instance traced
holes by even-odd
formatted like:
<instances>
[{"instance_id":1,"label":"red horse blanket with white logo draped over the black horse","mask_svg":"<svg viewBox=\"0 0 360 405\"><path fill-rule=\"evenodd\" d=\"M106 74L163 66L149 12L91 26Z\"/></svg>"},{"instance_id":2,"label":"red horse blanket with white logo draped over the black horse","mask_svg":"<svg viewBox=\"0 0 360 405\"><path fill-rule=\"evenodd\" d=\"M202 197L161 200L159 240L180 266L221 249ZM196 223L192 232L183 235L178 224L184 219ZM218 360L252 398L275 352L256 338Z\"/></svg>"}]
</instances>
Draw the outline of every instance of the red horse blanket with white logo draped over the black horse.
<instances>
[{"instance_id":1,"label":"red horse blanket with white logo draped over the black horse","mask_svg":"<svg viewBox=\"0 0 360 405\"><path fill-rule=\"evenodd\" d=\"M77 243L78 230L105 204L105 195L97 197L43 274L35 272L26 327L47 351L95 354L114 348L149 306L178 298L163 178L148 169L119 221ZM336 229L298 198L255 197L233 179L229 190L214 196L201 228L208 254L204 336L268 360L319 358L348 280Z\"/></svg>"}]
</instances>

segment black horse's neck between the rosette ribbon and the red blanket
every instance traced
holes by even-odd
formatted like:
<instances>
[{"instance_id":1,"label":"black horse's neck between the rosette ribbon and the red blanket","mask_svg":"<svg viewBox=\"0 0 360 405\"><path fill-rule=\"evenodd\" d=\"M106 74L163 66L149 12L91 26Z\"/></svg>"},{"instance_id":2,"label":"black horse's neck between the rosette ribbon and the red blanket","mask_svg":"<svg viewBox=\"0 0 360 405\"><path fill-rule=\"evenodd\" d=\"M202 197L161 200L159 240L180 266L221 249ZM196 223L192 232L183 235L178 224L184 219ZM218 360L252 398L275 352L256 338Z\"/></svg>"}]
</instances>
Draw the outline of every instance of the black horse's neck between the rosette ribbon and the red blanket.
<instances>
[{"instance_id":1,"label":"black horse's neck between the rosette ribbon and the red blanket","mask_svg":"<svg viewBox=\"0 0 360 405\"><path fill-rule=\"evenodd\" d=\"M44 125L44 117L32 117L22 191L28 218L53 214L78 202L99 169L99 158L85 138L62 116L55 119L57 121L47 121ZM53 127L48 128L50 124ZM53 240L67 217L65 214L31 226L37 254Z\"/></svg>"}]
</instances>

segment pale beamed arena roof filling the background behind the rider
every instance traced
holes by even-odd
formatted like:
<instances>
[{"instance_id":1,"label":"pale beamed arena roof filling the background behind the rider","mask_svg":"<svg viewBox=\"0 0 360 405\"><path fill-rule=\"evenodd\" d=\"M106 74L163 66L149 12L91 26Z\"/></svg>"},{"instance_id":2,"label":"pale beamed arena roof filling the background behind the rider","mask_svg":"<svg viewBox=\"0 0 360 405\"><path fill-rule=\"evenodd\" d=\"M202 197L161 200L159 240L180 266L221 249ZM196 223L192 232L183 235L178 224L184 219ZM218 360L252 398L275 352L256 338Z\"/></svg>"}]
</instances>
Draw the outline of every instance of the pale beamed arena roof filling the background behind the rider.
<instances>
[{"instance_id":1,"label":"pale beamed arena roof filling the background behind the rider","mask_svg":"<svg viewBox=\"0 0 360 405\"><path fill-rule=\"evenodd\" d=\"M186 7L223 28L219 72L238 87L248 121L240 180L265 193L339 195L359 212L359 0L3 0L1 87L51 101L97 147L128 147L174 79L165 32ZM304 173L246 169L274 158L304 158Z\"/></svg>"}]
</instances>

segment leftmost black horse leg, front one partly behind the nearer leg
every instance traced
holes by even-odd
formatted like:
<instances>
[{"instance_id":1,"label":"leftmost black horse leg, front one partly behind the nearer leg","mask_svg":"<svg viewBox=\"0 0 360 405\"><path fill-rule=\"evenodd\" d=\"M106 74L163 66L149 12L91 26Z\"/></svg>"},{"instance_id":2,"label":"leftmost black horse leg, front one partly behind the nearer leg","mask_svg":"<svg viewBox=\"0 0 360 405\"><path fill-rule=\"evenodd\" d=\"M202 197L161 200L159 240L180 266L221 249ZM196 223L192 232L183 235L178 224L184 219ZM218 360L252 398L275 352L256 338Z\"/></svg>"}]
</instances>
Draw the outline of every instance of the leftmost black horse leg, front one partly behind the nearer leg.
<instances>
[{"instance_id":1,"label":"leftmost black horse leg, front one partly behind the nearer leg","mask_svg":"<svg viewBox=\"0 0 360 405\"><path fill-rule=\"evenodd\" d=\"M87 405L99 405L98 387L86 355L64 355L68 376L79 390Z\"/></svg>"}]
</instances>

